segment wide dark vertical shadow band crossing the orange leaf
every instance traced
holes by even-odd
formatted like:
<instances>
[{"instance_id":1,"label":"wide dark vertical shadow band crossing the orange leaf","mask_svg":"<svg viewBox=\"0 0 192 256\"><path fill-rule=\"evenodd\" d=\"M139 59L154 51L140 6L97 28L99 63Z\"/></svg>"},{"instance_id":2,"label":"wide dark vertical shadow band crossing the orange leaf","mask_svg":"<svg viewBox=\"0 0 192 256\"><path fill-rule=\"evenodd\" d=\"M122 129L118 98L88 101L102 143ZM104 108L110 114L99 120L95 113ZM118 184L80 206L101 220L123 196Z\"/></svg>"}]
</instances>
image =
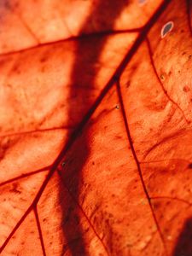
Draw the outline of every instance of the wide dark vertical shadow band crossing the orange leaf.
<instances>
[{"instance_id":1,"label":"wide dark vertical shadow band crossing the orange leaf","mask_svg":"<svg viewBox=\"0 0 192 256\"><path fill-rule=\"evenodd\" d=\"M89 24L93 24L93 18L98 16L110 17L110 20L106 20L107 23L103 26L107 27L108 31L113 29L114 22L118 18L119 14L124 9L125 5L128 4L127 0L119 1L98 1L95 6L93 6L90 15L84 21L84 24L80 30L80 34L87 30ZM102 18L102 20L105 20ZM101 36L91 36L90 41L86 42L87 39L79 38L77 41L76 50L74 52L73 68L71 73L71 87L69 92L69 102L68 102L68 122L77 118L77 113L79 113L79 108L83 109L85 106L87 109L90 108L92 103L91 100L91 90L94 90L94 84L96 81L96 62L99 61L102 49L105 46L107 37ZM91 47L89 49L89 44ZM89 60L91 62L88 61ZM86 76L84 76L86 74ZM85 78L85 81L84 79ZM75 98L73 104L71 99ZM84 110L84 109L83 109ZM83 111L82 111L83 112ZM69 134L70 136L70 134ZM62 203L62 230L66 238L67 244L63 246L62 255L68 250L71 255L87 255L86 245L84 241L84 234L89 228L84 229L82 227L82 216L83 209L79 203L79 194L82 189L81 171L84 167L85 161L88 159L90 154L89 138L84 137L83 144L79 145L79 148L73 150L73 160L69 160L66 172L61 172L61 180L64 186L68 190L68 194L71 200L68 199ZM70 165L74 167L70 168ZM78 163L78 164L77 164ZM61 201L63 201L63 195L61 192ZM90 228L91 229L91 228Z\"/></svg>"}]
</instances>

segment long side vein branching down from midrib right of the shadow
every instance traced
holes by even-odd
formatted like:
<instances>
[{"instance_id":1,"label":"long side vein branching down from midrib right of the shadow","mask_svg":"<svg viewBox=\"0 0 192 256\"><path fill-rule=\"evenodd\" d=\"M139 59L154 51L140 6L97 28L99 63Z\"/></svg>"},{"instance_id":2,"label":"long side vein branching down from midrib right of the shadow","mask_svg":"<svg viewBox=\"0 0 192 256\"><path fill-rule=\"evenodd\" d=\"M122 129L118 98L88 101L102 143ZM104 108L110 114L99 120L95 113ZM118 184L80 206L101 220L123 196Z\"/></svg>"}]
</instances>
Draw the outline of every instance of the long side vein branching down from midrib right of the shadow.
<instances>
[{"instance_id":1,"label":"long side vein branching down from midrib right of the shadow","mask_svg":"<svg viewBox=\"0 0 192 256\"><path fill-rule=\"evenodd\" d=\"M134 148L133 143L132 143L131 132L130 132L128 121L127 121L127 118L126 118L124 102L123 102L123 98L122 98L122 94L121 94L121 90L120 90L119 81L117 81L117 83L116 83L116 88L117 88L117 93L118 93L118 96L119 96L119 103L120 103L120 108L121 108L122 116L123 116L123 119L124 119L124 124L125 124L125 130L126 130L127 138L128 138L129 143L130 143L132 155L133 155L133 157L135 159L135 162L136 162L136 165L137 165L137 170L138 170L138 173L139 173L139 177L140 177L141 183L143 185L143 191L144 191L144 193L145 193L145 195L146 195L146 197L148 199L148 205L149 205L150 210L152 212L152 216L154 218L154 223L156 224L157 230L159 231L159 234L160 234L160 239L163 242L165 250L166 250L166 243L165 243L165 240L164 240L164 238L162 236L162 233L160 231L160 225L158 224L158 221L157 221L156 216L154 214L154 210L153 210L153 207L152 207L152 204L151 204L151 201L150 201L150 197L148 195L148 190L147 190L147 188L145 186L145 183L144 183L144 180L143 180L142 169L141 169L139 160L137 159L137 154L136 154L135 148Z\"/></svg>"}]
</instances>

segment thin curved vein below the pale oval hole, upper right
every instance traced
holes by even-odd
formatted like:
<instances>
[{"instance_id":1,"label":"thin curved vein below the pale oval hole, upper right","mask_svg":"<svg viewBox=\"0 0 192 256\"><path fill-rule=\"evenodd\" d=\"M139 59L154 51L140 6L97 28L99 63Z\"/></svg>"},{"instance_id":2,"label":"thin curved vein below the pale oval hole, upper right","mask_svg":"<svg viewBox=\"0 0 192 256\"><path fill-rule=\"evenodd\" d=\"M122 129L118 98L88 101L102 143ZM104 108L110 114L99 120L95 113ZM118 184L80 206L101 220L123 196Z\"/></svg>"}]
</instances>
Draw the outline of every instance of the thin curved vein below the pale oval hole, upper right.
<instances>
[{"instance_id":1,"label":"thin curved vein below the pale oval hole, upper right","mask_svg":"<svg viewBox=\"0 0 192 256\"><path fill-rule=\"evenodd\" d=\"M188 119L186 119L185 114L183 113L183 109L179 107L179 105L177 104L177 102L174 102L174 100L172 100L172 98L168 95L166 89L164 88L163 83L160 81L160 77L159 77L159 75L158 75L158 73L157 73L157 70L156 70L156 67L155 67L155 65L154 65L154 59L153 59L153 53L152 53L151 45L150 45L150 42L149 42L149 40L148 40L147 37L146 37L146 42L147 42L147 45L148 45L148 55L149 55L149 58L150 58L150 61L151 61L151 66L153 67L154 74L155 74L156 78L158 79L158 81L159 81L159 83L160 83L161 89L162 89L163 92L165 93L167 99L168 99L170 102L172 102L172 104L174 104L174 105L181 111L181 113L183 114L183 117L184 117L186 123L189 124Z\"/></svg>"}]
</instances>

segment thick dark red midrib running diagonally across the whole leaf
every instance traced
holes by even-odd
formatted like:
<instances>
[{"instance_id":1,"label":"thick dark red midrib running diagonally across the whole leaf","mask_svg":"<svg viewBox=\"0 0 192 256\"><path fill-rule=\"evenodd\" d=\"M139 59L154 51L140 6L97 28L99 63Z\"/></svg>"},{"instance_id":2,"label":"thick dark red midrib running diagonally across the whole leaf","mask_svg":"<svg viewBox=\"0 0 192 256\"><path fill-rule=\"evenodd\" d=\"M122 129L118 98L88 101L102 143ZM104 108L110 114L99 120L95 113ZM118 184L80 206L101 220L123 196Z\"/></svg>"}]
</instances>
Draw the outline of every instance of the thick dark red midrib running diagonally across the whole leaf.
<instances>
[{"instance_id":1,"label":"thick dark red midrib running diagonally across the whole leaf","mask_svg":"<svg viewBox=\"0 0 192 256\"><path fill-rule=\"evenodd\" d=\"M100 102L102 102L103 97L107 95L108 90L110 90L110 88L113 86L115 81L117 81L119 79L119 76L121 75L121 73L123 73L125 67L129 63L129 61L131 61L132 56L136 53L139 46L143 43L143 41L146 38L146 35L147 35L148 31L150 30L150 28L154 25L155 21L158 20L160 15L163 13L163 11L166 9L168 4L171 3L171 2L172 2L172 0L164 0L160 4L160 7L154 12L154 15L152 15L150 20L148 20L147 24L143 27L143 31L139 33L135 43L132 45L129 52L125 55L125 58L123 59L123 61L121 61L121 63L119 64L119 67L117 67L116 71L113 73L112 78L109 79L108 83L106 84L106 86L102 90L101 94L97 97L96 102L92 105L92 107L90 108L88 113L84 116L84 119L82 119L82 121L78 125L77 129L75 129L75 131L73 131L73 134L70 137L70 139L68 140L68 143L62 148L61 153L56 158L51 170L49 171L48 176L45 178L44 183L42 184L41 188L38 190L38 194L36 195L34 201L32 201L31 206L28 207L28 209L26 210L26 212L24 213L22 218L20 218L20 221L15 225L14 230L11 231L8 238L4 241L3 246L0 248L0 253L2 253L3 248L6 247L10 238L14 235L15 231L20 227L20 224L26 218L28 213L32 211L32 207L35 206L38 203L38 200L39 200L40 196L42 195L47 183L49 182L50 177L52 177L52 175L54 174L57 166L59 166L59 164L60 164L61 160L63 159L64 155L67 153L67 150L69 148L71 148L75 139L79 136L79 134L83 130L84 125L87 124L91 115L95 112L95 110L98 107L98 105L100 104Z\"/></svg>"}]
</instances>

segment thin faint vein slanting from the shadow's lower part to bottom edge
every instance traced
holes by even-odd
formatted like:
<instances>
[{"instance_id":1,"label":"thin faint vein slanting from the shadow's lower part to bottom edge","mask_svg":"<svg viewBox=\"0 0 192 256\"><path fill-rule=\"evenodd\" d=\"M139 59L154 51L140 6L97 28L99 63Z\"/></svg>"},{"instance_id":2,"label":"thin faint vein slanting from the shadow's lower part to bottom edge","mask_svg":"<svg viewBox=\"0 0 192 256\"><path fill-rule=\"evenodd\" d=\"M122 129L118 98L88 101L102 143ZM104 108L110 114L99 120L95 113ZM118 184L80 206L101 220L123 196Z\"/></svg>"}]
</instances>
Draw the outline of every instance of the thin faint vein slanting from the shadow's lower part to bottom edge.
<instances>
[{"instance_id":1,"label":"thin faint vein slanting from the shadow's lower part to bottom edge","mask_svg":"<svg viewBox=\"0 0 192 256\"><path fill-rule=\"evenodd\" d=\"M80 211L84 214L84 217L86 218L87 222L90 224L91 229L94 231L94 233L96 234L96 237L99 239L99 241L101 241L102 246L104 247L106 253L108 253L108 248L106 247L106 245L105 245L104 242L102 241L102 238L97 234L96 229L94 228L93 224L91 224L90 219L87 217L86 213L84 212L84 209L83 209L83 208L81 207L81 205L79 204L79 201L77 201L77 200L75 199L75 197L74 197L73 194L71 193L70 189L68 189L66 183L65 183L64 180L63 180L63 177L61 176L61 172L58 171L58 174L59 174L59 176L61 177L61 179L62 179L62 181L63 181L62 184L63 184L63 185L65 186L65 188L67 189L68 194L72 197L73 201L77 204L77 206L79 207ZM108 256L109 256L109 253L108 253Z\"/></svg>"}]
</instances>

